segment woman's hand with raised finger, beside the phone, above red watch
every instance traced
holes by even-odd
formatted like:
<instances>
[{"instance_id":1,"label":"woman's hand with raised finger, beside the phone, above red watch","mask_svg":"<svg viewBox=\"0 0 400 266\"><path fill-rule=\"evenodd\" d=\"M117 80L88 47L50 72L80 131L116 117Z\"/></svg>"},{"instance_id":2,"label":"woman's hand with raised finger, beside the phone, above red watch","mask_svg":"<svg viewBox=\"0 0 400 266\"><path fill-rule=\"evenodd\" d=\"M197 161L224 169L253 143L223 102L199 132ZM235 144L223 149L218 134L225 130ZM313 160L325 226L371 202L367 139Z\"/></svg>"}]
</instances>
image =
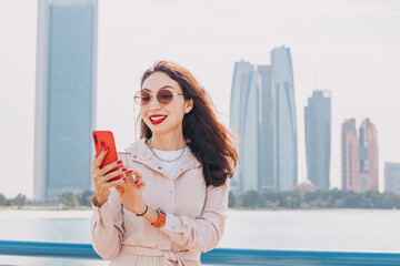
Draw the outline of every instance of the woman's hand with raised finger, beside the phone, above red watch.
<instances>
[{"instance_id":1,"label":"woman's hand with raised finger, beside the phone, above red watch","mask_svg":"<svg viewBox=\"0 0 400 266\"><path fill-rule=\"evenodd\" d=\"M142 192L146 183L142 175L134 170L126 172L127 182L122 183L123 193L119 194L123 206L134 214L142 214L146 211ZM133 176L136 176L133 178Z\"/></svg>"}]
</instances>

